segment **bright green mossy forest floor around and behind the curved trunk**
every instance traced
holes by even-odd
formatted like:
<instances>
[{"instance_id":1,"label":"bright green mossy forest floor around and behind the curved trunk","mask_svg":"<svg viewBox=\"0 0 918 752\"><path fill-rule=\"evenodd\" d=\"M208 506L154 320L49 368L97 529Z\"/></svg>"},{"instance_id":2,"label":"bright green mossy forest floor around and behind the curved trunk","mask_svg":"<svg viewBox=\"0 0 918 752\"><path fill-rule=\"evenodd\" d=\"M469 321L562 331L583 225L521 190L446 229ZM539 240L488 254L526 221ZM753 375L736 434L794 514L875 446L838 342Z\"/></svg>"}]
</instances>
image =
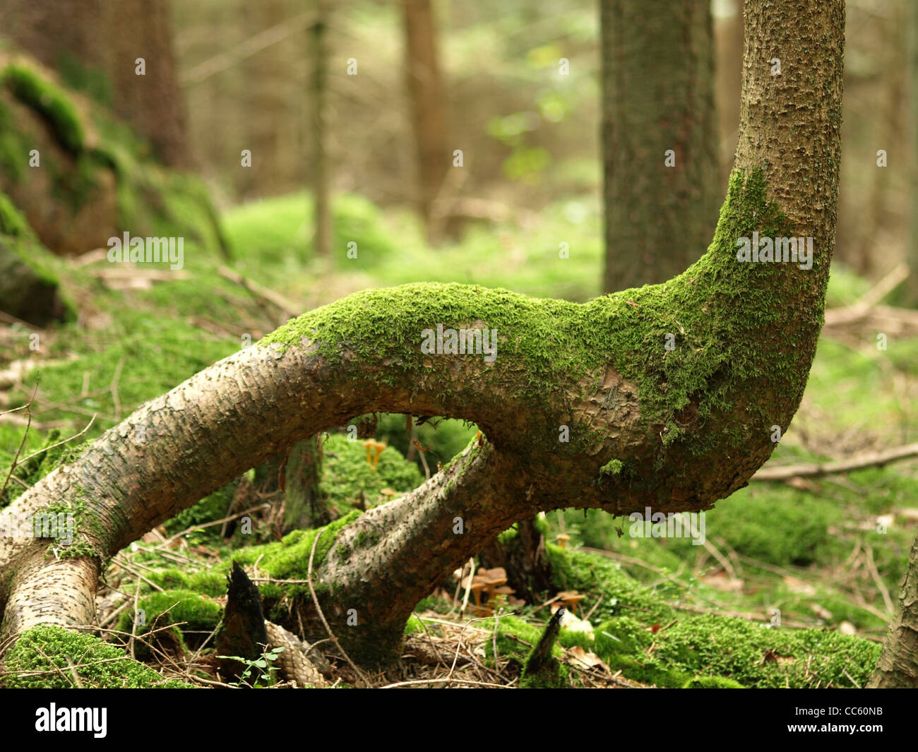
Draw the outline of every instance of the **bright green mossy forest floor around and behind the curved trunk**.
<instances>
[{"instance_id":1,"label":"bright green mossy forest floor around and behind the curved trunk","mask_svg":"<svg viewBox=\"0 0 918 752\"><path fill-rule=\"evenodd\" d=\"M105 148L115 136L103 132L102 138ZM122 161L131 157L127 147L108 147ZM148 184L144 191L168 198L166 213L153 222L159 234L183 234L170 231L170 221L207 228L196 185L164 178ZM119 196L120 211L137 207L129 188ZM117 275L102 254L53 260L75 318L42 331L0 322L0 410L31 400L28 410L0 416L4 477L18 458L0 507L46 475L74 444L94 439L143 401L257 341L290 313L365 287L407 282L503 286L573 301L599 293L594 197L559 202L522 225L472 226L462 241L431 251L407 212L384 213L361 196L338 196L335 248L354 242L357 259L344 251L333 260L315 258L310 212L302 195L229 209L222 221L232 260L219 251L215 233L202 229L184 233L185 265L177 272L133 264L130 275ZM568 259L558 257L559 238L570 248ZM255 285L241 283L227 265ZM869 288L835 267L829 306L850 305ZM842 459L918 441L918 336L890 333L879 350L878 333L823 336L800 412L771 465ZM46 449L91 420L76 441ZM375 437L387 448L373 469L342 426L324 440L322 492L339 516L359 504L384 503L420 484L475 436L476 426L461 421L418 426L414 438L429 447L425 470L405 435L404 416L378 416ZM214 686L208 638L222 614L230 561L239 561L256 581L305 577L302 550L310 533L276 540L279 493L260 488L250 471L132 544L107 564L98 593L101 634L110 645L88 635L35 631L7 654L0 683ZM236 520L213 524L250 508L251 534ZM374 683L450 678L519 686L525 657L551 616L548 601L576 589L585 596L578 615L592 631L562 630L554 655L567 686L862 686L879 657L918 531L918 463L786 484L754 481L708 512L704 545L633 538L628 520L599 511L551 512L541 524L551 589L533 602L505 604L498 618L468 609L460 617L461 604L453 600L457 581L443 582L409 623L401 663ZM559 535L567 536L564 548ZM308 597L301 584L260 584L269 618L282 620L292 601ZM459 589L460 600L463 595ZM135 597L146 615L143 626L131 618ZM125 657L131 650L139 662ZM343 661L335 668L341 683L356 683Z\"/></svg>"}]
</instances>

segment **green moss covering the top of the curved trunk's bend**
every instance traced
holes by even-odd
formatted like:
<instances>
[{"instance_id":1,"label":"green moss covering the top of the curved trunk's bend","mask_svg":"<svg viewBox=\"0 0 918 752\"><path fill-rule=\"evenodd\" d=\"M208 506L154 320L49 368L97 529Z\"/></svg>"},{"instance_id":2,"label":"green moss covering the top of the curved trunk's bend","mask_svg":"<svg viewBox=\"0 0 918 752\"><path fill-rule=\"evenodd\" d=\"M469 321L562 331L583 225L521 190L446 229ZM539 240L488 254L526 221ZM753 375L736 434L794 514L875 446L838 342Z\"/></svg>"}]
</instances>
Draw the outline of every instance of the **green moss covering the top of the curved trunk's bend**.
<instances>
[{"instance_id":1,"label":"green moss covering the top of the curved trunk's bend","mask_svg":"<svg viewBox=\"0 0 918 752\"><path fill-rule=\"evenodd\" d=\"M769 332L783 327L792 348L797 332L819 331L822 307L794 311L794 326L787 327L789 312L770 284L772 275L783 272L773 268L776 264L740 264L735 256L737 238L753 230L779 236L786 226L767 196L766 174L734 170L708 253L665 284L579 305L457 284L364 290L291 320L261 344L277 352L292 344L307 347L332 367L353 356L366 363L391 363L374 377L392 385L397 378L404 383L430 372L432 359L420 352L424 329L438 323L467 328L474 322L498 331L498 362L510 358L519 365L516 373L523 376L509 384L509 398L525 402L554 396L564 404L563 387L588 374L599 386L611 364L637 385L647 431L662 437L664 451L677 442L689 443L696 455L714 443L741 447L753 432L774 422L755 400L750 400L745 421L735 426L726 421L717 435L686 432L683 411L694 405L700 421L725 416L737 395L756 394L763 383L795 389L798 398L802 394L806 372L799 360L772 357L758 345L771 342ZM826 276L814 263L795 285L822 286L818 297ZM669 333L676 334L671 351L664 346ZM485 371L480 388L498 387L497 371ZM367 378L364 372L351 373ZM506 390L506 380L499 387ZM441 388L438 397L449 397L451 387ZM594 438L601 437L587 440ZM576 435L572 439L581 441Z\"/></svg>"}]
</instances>

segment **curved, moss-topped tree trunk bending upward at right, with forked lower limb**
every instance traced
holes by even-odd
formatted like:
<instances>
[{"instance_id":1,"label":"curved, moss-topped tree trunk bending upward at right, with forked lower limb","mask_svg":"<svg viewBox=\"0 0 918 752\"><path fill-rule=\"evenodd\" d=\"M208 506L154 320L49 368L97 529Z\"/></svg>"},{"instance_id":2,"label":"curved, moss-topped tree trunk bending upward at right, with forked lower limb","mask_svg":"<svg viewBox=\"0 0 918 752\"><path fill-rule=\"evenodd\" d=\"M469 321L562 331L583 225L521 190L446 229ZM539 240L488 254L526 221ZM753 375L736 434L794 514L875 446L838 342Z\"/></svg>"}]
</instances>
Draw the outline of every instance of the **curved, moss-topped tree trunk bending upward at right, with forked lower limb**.
<instances>
[{"instance_id":1,"label":"curved, moss-topped tree trunk bending upward at right, with forked lower limb","mask_svg":"<svg viewBox=\"0 0 918 752\"><path fill-rule=\"evenodd\" d=\"M395 649L417 601L512 522L565 507L697 511L743 487L800 404L823 322L844 26L843 0L746 3L737 169L708 253L683 275L585 304L420 284L309 311L141 406L0 515L69 501L82 555L58 561L47 542L0 537L4 632L92 623L99 557L372 411L475 421L487 440L326 531L319 600L365 661ZM812 237L812 268L737 262L737 239L754 230ZM496 358L426 354L424 330L438 324L496 331Z\"/></svg>"}]
</instances>

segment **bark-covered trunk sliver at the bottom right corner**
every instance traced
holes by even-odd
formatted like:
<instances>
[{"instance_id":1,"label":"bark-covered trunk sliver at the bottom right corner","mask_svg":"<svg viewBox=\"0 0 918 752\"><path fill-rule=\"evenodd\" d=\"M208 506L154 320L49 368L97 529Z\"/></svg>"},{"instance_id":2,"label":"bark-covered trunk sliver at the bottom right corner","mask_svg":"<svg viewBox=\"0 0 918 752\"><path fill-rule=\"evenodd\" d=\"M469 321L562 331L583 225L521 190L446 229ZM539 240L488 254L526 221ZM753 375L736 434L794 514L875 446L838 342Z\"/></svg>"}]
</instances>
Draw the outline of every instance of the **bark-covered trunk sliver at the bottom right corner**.
<instances>
[{"instance_id":1,"label":"bark-covered trunk sliver at the bottom right corner","mask_svg":"<svg viewBox=\"0 0 918 752\"><path fill-rule=\"evenodd\" d=\"M899 613L890 623L871 689L918 688L918 538L902 579Z\"/></svg>"}]
</instances>

